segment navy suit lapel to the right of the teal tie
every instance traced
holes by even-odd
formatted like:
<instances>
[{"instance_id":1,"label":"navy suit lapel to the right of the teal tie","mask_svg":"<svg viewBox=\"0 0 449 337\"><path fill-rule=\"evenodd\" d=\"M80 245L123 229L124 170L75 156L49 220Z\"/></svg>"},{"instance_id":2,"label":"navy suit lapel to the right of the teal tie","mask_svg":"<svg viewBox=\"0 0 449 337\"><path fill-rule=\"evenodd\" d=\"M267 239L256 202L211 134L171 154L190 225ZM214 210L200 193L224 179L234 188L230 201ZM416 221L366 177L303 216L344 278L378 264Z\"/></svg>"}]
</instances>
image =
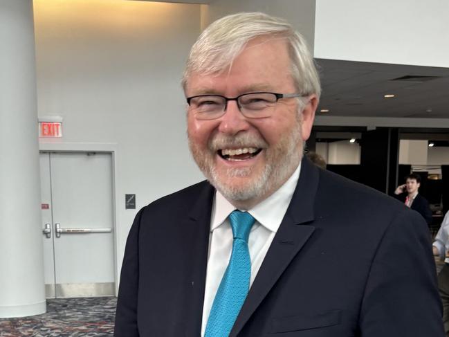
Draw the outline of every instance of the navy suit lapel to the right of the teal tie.
<instances>
[{"instance_id":1,"label":"navy suit lapel to the right of the teal tie","mask_svg":"<svg viewBox=\"0 0 449 337\"><path fill-rule=\"evenodd\" d=\"M250 288L248 297L237 316L230 337L235 337L250 316L273 288L288 264L306 244L315 227L309 225L314 219L314 201L318 189L318 169L305 157L302 159L300 179L282 219L279 230L266 253L266 257Z\"/></svg>"}]
</instances>

